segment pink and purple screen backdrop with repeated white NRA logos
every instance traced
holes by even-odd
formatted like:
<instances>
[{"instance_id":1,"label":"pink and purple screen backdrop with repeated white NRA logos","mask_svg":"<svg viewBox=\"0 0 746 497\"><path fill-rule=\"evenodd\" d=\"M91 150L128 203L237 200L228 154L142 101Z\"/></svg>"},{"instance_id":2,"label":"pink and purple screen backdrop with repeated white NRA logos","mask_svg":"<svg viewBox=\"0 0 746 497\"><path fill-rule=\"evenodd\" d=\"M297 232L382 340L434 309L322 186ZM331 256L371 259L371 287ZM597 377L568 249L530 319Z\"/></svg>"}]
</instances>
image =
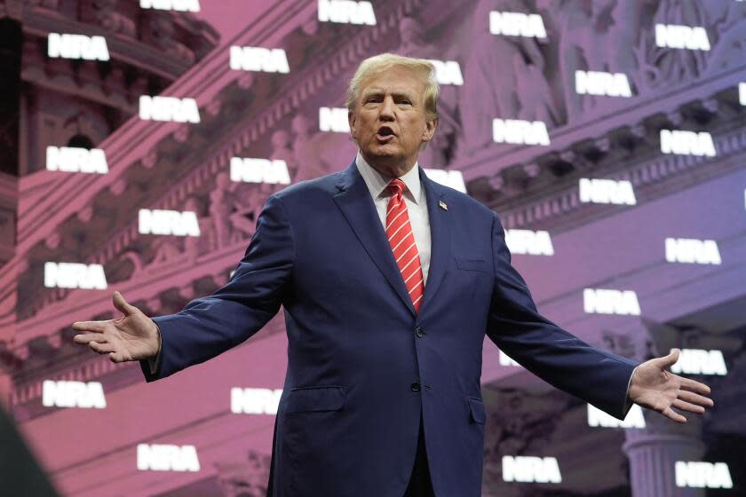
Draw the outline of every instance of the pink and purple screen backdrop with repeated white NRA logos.
<instances>
[{"instance_id":1,"label":"pink and purple screen backdrop with repeated white NRA logos","mask_svg":"<svg viewBox=\"0 0 746 497\"><path fill-rule=\"evenodd\" d=\"M282 312L150 384L70 324L224 285L268 195L353 160L383 51L433 60L419 163L496 210L540 311L713 390L619 422L486 343L482 494L746 493L746 2L4 0L0 392L60 493L264 495Z\"/></svg>"}]
</instances>

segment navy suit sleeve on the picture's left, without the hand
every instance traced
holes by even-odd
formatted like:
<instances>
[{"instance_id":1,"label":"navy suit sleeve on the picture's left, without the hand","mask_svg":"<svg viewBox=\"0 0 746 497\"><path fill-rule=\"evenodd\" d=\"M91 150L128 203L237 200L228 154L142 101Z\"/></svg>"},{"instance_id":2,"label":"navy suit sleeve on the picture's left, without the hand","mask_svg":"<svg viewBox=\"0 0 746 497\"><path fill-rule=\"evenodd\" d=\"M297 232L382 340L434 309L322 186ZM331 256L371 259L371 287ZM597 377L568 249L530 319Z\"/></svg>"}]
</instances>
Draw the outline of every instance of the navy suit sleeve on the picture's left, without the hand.
<instances>
[{"instance_id":1,"label":"navy suit sleeve on the picture's left, without the hand","mask_svg":"<svg viewBox=\"0 0 746 497\"><path fill-rule=\"evenodd\" d=\"M273 195L226 286L194 299L181 312L153 319L160 329L161 351L155 371L147 360L140 361L147 382L211 359L257 333L279 311L294 260L290 219Z\"/></svg>"}]
</instances>

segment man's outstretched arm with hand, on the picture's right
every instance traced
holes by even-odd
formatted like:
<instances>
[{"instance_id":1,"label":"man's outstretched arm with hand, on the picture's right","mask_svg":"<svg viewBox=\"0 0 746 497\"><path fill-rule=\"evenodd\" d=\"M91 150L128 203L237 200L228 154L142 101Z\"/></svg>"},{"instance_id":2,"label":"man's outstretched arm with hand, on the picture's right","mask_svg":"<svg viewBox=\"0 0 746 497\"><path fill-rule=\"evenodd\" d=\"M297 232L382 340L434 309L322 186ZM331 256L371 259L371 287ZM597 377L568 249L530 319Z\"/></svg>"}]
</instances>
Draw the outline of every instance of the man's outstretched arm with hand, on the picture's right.
<instances>
[{"instance_id":1,"label":"man's outstretched arm with hand, on the picture's right","mask_svg":"<svg viewBox=\"0 0 746 497\"><path fill-rule=\"evenodd\" d=\"M713 406L705 397L710 387L668 370L679 360L678 350L638 365L591 347L539 314L526 282L512 267L498 217L493 225L493 256L496 282L488 336L532 373L619 419L633 403L675 422L686 418L674 409L702 414Z\"/></svg>"}]
</instances>

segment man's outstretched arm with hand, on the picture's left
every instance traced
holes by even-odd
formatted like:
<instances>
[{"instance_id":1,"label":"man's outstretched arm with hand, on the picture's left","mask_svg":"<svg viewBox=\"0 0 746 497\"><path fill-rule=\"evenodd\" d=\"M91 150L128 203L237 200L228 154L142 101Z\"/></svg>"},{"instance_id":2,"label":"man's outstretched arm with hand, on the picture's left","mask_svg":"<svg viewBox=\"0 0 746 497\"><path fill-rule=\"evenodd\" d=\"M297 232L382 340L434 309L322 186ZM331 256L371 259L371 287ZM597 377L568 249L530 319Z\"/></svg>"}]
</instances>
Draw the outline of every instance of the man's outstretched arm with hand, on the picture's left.
<instances>
[{"instance_id":1,"label":"man's outstretched arm with hand, on the picture's left","mask_svg":"<svg viewBox=\"0 0 746 497\"><path fill-rule=\"evenodd\" d=\"M140 360L148 382L172 375L242 343L272 319L282 304L294 259L290 220L282 201L273 195L226 286L194 299L181 312L152 320L115 293L115 306L124 316L75 323L76 330L88 332L76 335L75 342L90 343L94 351L112 354L115 362ZM149 363L156 357L152 371Z\"/></svg>"}]
</instances>

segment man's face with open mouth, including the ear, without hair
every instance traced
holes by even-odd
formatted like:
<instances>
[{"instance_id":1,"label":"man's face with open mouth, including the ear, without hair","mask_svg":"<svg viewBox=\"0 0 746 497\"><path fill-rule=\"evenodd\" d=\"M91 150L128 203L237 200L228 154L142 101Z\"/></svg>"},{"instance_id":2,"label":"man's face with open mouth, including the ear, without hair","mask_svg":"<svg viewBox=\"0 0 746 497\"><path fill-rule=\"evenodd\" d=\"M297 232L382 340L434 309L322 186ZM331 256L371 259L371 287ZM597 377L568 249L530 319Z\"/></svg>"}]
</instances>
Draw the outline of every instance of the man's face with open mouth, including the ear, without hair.
<instances>
[{"instance_id":1,"label":"man's face with open mouth, including the ear, without hair","mask_svg":"<svg viewBox=\"0 0 746 497\"><path fill-rule=\"evenodd\" d=\"M425 82L405 67L392 67L364 82L349 113L350 131L365 160L399 177L417 162L420 146L433 138L425 121Z\"/></svg>"}]
</instances>

